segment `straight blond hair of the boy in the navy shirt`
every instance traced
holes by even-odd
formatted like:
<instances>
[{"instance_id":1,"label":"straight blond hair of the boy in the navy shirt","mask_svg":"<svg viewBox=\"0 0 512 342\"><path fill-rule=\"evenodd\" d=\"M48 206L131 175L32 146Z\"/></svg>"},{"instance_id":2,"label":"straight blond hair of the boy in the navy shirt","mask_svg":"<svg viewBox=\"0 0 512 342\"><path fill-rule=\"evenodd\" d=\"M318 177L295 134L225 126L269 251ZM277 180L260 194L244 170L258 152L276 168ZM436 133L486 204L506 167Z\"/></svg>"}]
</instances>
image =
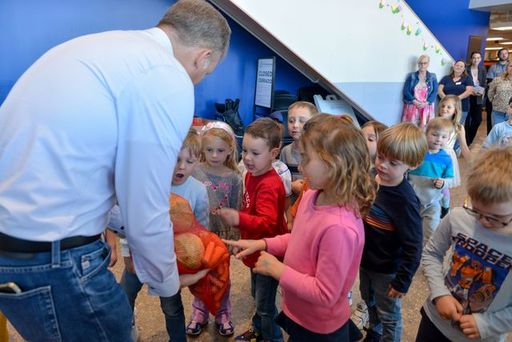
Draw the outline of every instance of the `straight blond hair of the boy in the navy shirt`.
<instances>
[{"instance_id":1,"label":"straight blond hair of the boy in the navy shirt","mask_svg":"<svg viewBox=\"0 0 512 342\"><path fill-rule=\"evenodd\" d=\"M428 145L425 133L412 123L404 122L386 129L377 142L377 153L399 160L411 167L423 162Z\"/></svg>"}]
</instances>

